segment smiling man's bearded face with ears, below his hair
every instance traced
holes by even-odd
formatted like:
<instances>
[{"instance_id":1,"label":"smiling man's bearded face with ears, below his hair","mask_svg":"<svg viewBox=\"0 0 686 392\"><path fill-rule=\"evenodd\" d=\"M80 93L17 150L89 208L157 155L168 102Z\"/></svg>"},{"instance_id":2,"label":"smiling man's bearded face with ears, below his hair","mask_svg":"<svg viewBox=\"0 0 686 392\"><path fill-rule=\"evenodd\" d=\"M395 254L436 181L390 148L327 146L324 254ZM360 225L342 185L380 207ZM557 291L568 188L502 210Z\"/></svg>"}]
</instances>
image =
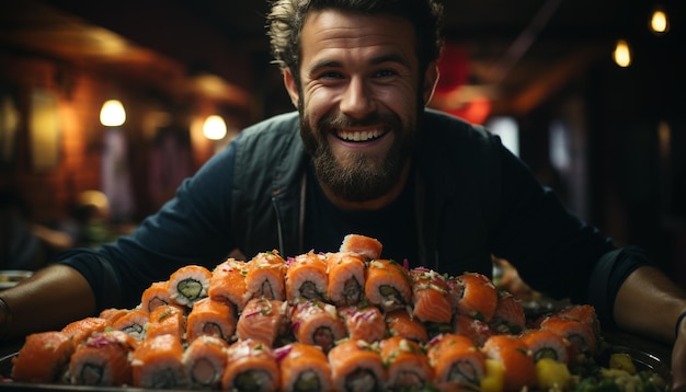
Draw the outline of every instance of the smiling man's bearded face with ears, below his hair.
<instances>
[{"instance_id":1,"label":"smiling man's bearded face with ears, below his hair","mask_svg":"<svg viewBox=\"0 0 686 392\"><path fill-rule=\"evenodd\" d=\"M348 201L387 194L400 178L434 80L419 76L414 32L395 16L310 14L300 84L286 87L321 184Z\"/></svg>"}]
</instances>

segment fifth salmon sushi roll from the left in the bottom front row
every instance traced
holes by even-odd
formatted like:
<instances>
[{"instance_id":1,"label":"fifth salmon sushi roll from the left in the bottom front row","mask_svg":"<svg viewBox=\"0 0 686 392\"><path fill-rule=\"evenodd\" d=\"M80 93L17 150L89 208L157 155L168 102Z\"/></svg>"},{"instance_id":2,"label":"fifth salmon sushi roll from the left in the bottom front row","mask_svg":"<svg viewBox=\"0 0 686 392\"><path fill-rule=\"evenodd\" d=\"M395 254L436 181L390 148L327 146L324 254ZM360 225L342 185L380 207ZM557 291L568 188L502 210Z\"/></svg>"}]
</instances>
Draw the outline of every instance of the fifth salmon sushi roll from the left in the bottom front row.
<instances>
[{"instance_id":1,"label":"fifth salmon sushi roll from the left in the bottom front row","mask_svg":"<svg viewBox=\"0 0 686 392\"><path fill-rule=\"evenodd\" d=\"M238 341L227 350L225 391L278 391L281 371L272 349L260 341Z\"/></svg>"}]
</instances>

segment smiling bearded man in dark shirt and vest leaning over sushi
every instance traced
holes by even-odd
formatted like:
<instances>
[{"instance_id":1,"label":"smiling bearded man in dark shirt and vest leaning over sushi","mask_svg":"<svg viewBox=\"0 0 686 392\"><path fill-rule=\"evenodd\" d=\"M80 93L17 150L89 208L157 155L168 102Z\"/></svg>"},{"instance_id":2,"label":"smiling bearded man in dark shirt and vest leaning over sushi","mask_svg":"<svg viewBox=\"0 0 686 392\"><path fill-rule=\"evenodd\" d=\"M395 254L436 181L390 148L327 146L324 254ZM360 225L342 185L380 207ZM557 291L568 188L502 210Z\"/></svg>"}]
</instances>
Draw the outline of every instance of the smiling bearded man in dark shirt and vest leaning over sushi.
<instances>
[{"instance_id":1,"label":"smiling bearded man in dark shirt and vest leaning over sushi","mask_svg":"<svg viewBox=\"0 0 686 392\"><path fill-rule=\"evenodd\" d=\"M686 295L640 251L564 210L496 137L425 109L439 14L431 0L276 1L272 48L298 115L243 130L132 235L65 254L3 292L5 331L134 305L150 283L232 250L335 251L355 232L379 239L386 258L453 275L490 274L491 255L506 258L534 288L595 305L607 325L675 342L685 384Z\"/></svg>"}]
</instances>

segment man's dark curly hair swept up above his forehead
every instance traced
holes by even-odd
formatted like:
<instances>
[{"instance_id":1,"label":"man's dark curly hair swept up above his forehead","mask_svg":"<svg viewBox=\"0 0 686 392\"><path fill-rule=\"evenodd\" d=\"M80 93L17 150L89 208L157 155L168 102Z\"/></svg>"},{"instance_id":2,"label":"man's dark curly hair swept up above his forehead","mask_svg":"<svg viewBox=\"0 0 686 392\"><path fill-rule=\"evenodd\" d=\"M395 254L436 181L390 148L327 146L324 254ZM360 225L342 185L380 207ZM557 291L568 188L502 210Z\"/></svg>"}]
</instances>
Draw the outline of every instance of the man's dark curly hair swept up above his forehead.
<instances>
[{"instance_id":1,"label":"man's dark curly hair swept up above his forehead","mask_svg":"<svg viewBox=\"0 0 686 392\"><path fill-rule=\"evenodd\" d=\"M408 20L416 34L420 71L441 55L443 4L438 0L273 0L266 18L274 61L289 69L299 83L300 34L310 11L327 9L389 14Z\"/></svg>"}]
</instances>

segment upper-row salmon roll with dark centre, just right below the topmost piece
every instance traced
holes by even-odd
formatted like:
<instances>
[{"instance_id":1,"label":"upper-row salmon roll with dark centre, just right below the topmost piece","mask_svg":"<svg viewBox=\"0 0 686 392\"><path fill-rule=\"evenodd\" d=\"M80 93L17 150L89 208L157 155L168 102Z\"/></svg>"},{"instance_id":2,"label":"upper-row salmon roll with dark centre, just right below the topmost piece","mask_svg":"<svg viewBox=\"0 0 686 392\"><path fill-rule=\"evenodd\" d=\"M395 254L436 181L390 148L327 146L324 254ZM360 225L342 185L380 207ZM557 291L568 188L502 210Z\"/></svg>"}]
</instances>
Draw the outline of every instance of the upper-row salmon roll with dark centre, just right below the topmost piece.
<instances>
[{"instance_id":1,"label":"upper-row salmon roll with dark centre, just right below the topmost piece","mask_svg":"<svg viewBox=\"0 0 686 392\"><path fill-rule=\"evenodd\" d=\"M405 308L412 302L408 272L390 260L374 260L367 265L365 297L385 311Z\"/></svg>"}]
</instances>

